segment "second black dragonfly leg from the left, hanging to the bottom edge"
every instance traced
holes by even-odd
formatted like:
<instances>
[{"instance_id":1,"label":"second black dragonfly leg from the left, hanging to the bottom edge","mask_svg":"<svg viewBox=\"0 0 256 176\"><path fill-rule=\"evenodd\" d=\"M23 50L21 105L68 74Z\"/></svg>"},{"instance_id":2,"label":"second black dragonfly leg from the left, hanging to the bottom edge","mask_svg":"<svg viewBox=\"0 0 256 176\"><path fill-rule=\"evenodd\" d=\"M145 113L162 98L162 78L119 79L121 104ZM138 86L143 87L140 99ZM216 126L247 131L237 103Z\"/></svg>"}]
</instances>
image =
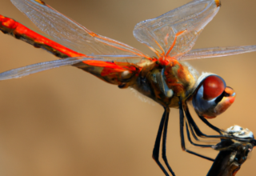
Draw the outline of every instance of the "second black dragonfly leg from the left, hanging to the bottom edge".
<instances>
[{"instance_id":1,"label":"second black dragonfly leg from the left, hanging to the bottom edge","mask_svg":"<svg viewBox=\"0 0 256 176\"><path fill-rule=\"evenodd\" d=\"M165 120L165 125L164 125L164 129L163 129L163 134L162 134L162 159L166 163L166 166L167 166L168 170L170 171L170 173L172 175L175 175L174 171L170 168L170 165L166 158L166 136L167 136L169 114L170 114L169 107L165 108L165 111L166 111L166 120Z\"/></svg>"}]
</instances>

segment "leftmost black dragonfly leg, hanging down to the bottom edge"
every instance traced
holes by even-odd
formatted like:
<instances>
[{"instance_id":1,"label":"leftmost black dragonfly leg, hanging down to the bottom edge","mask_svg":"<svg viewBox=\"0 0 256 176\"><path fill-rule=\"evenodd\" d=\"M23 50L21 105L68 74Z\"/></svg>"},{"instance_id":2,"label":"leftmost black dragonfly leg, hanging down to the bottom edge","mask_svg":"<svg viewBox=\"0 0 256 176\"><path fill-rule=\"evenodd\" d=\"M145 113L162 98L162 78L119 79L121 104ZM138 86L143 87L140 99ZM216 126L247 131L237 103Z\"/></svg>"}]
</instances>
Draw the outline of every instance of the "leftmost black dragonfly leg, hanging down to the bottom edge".
<instances>
[{"instance_id":1,"label":"leftmost black dragonfly leg, hanging down to the bottom edge","mask_svg":"<svg viewBox=\"0 0 256 176\"><path fill-rule=\"evenodd\" d=\"M160 125L158 128L157 138L155 139L155 142L154 142L154 150L153 150L152 157L153 157L154 161L157 162L158 166L163 171L163 173L166 174L166 176L169 176L169 174L167 173L165 168L162 166L161 162L159 162L159 148L160 148L163 126L166 121L166 114L167 114L167 112L165 109L164 113L162 114L162 119L161 119L161 122L160 122Z\"/></svg>"}]
</instances>

